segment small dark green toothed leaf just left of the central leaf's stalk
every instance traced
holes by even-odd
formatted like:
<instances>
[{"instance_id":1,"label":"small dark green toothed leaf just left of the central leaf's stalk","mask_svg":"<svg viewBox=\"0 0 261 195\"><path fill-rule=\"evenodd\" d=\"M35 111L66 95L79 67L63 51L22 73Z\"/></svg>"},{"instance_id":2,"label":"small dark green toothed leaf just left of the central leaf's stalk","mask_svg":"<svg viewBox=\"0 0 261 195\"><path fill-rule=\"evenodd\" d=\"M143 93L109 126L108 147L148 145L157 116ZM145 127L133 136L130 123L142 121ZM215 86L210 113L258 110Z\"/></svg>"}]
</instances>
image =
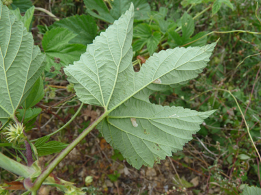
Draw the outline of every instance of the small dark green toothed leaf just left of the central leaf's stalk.
<instances>
[{"instance_id":1,"label":"small dark green toothed leaf just left of the central leaf's stalk","mask_svg":"<svg viewBox=\"0 0 261 195\"><path fill-rule=\"evenodd\" d=\"M43 141L44 140L42 140L42 142ZM53 153L59 153L61 150L66 148L68 145L69 144L64 144L62 142L57 142L57 141L50 141L50 142L47 142L44 144L41 143L40 146L38 146L38 144L34 144L39 157L45 156L45 155L51 155Z\"/></svg>"}]
</instances>

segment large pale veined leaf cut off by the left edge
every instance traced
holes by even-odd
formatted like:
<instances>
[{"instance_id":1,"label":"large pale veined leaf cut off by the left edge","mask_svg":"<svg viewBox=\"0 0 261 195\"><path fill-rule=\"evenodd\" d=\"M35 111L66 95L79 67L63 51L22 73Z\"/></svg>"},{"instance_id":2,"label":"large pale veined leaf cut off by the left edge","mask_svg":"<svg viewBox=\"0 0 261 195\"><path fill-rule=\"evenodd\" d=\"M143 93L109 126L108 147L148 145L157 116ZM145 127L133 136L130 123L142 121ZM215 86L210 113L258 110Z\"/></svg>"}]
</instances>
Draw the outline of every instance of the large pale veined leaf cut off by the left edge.
<instances>
[{"instance_id":1,"label":"large pale veined leaf cut off by the left edge","mask_svg":"<svg viewBox=\"0 0 261 195\"><path fill-rule=\"evenodd\" d=\"M43 72L45 55L23 22L0 6L0 120L6 121L30 94Z\"/></svg>"}]
</instances>

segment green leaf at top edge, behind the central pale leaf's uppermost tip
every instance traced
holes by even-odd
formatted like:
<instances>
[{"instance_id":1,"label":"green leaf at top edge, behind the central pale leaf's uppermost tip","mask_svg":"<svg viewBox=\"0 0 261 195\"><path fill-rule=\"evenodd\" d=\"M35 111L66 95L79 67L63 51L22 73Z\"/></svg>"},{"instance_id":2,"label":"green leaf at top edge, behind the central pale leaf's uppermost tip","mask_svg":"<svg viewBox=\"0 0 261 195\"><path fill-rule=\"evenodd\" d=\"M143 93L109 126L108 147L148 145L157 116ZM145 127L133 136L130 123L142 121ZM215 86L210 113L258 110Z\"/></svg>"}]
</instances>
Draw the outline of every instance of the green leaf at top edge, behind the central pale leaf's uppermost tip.
<instances>
[{"instance_id":1,"label":"green leaf at top edge, behind the central pale leaf's uppermost tip","mask_svg":"<svg viewBox=\"0 0 261 195\"><path fill-rule=\"evenodd\" d=\"M148 13L150 13L150 5L146 2L146 0L114 0L111 2L111 10L108 10L103 0L84 0L87 12L91 14L91 16L108 23L113 23L113 21L124 14L124 12L126 12L126 10L130 7L131 2L133 2L135 7L135 19L145 20L149 18ZM96 14L93 10L98 12L98 14Z\"/></svg>"}]
</instances>

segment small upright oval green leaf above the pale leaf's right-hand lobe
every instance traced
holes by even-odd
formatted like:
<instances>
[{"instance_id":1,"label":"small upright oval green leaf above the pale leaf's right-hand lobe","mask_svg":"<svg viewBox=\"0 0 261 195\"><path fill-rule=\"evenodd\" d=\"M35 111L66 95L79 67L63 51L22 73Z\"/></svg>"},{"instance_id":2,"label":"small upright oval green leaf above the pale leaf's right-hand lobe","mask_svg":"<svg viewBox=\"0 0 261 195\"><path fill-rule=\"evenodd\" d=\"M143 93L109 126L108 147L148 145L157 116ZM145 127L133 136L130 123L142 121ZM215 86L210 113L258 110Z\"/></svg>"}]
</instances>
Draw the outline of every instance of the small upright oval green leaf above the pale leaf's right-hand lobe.
<instances>
[{"instance_id":1,"label":"small upright oval green leaf above the pale leaf's right-hand lobe","mask_svg":"<svg viewBox=\"0 0 261 195\"><path fill-rule=\"evenodd\" d=\"M182 29L182 38L190 38L194 32L194 20L187 12L185 12L181 18L181 29Z\"/></svg>"}]
</instances>

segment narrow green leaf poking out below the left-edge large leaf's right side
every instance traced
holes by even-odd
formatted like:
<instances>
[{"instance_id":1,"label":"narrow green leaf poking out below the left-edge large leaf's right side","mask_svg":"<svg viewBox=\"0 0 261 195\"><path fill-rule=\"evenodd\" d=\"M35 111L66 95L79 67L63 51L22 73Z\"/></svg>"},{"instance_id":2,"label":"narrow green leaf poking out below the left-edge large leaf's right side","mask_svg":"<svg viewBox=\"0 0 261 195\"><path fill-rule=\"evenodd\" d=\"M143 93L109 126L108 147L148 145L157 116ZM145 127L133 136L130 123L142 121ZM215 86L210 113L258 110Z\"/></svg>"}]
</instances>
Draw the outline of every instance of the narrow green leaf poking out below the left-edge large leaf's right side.
<instances>
[{"instance_id":1,"label":"narrow green leaf poking out below the left-edge large leaf's right side","mask_svg":"<svg viewBox=\"0 0 261 195\"><path fill-rule=\"evenodd\" d=\"M23 107L25 109L33 107L34 105L36 105L36 103L43 99L43 96L45 96L45 92L43 90L43 79L42 77L39 77L39 79L37 79L37 81L34 83L30 94L25 99Z\"/></svg>"}]
</instances>

